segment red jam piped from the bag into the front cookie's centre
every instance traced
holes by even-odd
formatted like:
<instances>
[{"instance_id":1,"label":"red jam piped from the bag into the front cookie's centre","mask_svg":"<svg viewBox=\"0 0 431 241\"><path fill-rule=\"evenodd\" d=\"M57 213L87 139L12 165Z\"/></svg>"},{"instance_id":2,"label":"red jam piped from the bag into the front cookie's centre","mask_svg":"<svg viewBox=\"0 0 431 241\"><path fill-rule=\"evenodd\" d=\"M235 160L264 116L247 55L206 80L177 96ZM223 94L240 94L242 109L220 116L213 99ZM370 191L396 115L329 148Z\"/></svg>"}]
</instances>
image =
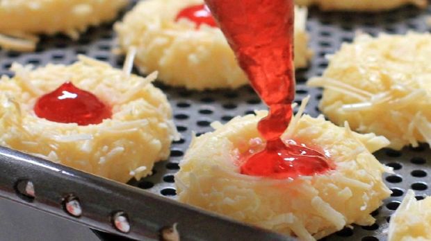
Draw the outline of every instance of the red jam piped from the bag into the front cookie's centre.
<instances>
[{"instance_id":1,"label":"red jam piped from the bag into the front cookie's centre","mask_svg":"<svg viewBox=\"0 0 431 241\"><path fill-rule=\"evenodd\" d=\"M316 175L331 170L325 154L284 143L295 98L293 0L206 0L252 87L270 111L258 125L266 147L241 164L245 175L273 178Z\"/></svg>"}]
</instances>

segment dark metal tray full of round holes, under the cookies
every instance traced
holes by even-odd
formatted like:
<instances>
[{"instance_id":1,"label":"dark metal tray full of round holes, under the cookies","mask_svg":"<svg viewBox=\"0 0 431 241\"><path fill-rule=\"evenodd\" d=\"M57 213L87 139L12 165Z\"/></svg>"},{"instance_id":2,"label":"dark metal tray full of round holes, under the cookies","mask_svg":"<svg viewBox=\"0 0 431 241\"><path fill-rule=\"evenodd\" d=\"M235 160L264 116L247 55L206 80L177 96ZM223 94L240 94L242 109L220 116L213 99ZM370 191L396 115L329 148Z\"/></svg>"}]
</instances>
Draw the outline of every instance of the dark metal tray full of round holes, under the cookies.
<instances>
[{"instance_id":1,"label":"dark metal tray full of round holes, under the cookies","mask_svg":"<svg viewBox=\"0 0 431 241\"><path fill-rule=\"evenodd\" d=\"M334 53L341 46L342 42L351 42L355 33L361 31L371 35L378 33L406 33L409 30L416 30L419 32L428 31L430 26L427 25L428 16L431 14L431 8L426 10L419 10L414 7L404 7L389 12L380 13L343 13L343 12L320 12L320 10L311 8L309 11L309 21L307 22L307 30L310 35L310 46L314 50L314 58L310 63L308 69L297 71L297 102L307 95L311 96L311 101L307 106L306 113L311 116L317 116L318 100L321 98L321 90L309 88L305 86L308 78L316 75L321 75L327 66L325 55ZM119 17L120 19L120 17ZM95 57L98 60L110 62L113 66L120 68L123 64L124 58L122 56L113 55L111 49L115 47L115 36L111 24L100 26L99 28L91 28L84 34L79 42L72 42L67 37L42 37L41 44L38 46L36 53L16 53L13 51L0 51L0 73L12 75L8 68L13 62L20 62L22 64L34 64L35 66L42 66L48 63L62 63L70 64L76 61L78 54L85 54L90 57ZM135 70L136 72L136 70ZM238 90L222 90L222 91L187 91L186 89L166 87L163 84L157 83L158 87L163 89L168 95L168 99L174 109L174 120L177 129L181 133L181 140L176 141L172 145L171 157L167 161L156 163L154 167L154 175L147 177L140 181L131 180L129 184L138 188L144 189L149 193L157 196L165 197L165 199L175 199L175 188L173 175L179 170L178 163L186 152L188 144L192 136L192 132L200 135L205 132L211 131L209 126L211 122L218 120L226 123L234 116L251 114L255 109L265 109L265 105L259 100L258 96L250 87L243 87ZM10 152L10 151L8 151ZM15 153L15 152L11 152ZM420 148L405 148L401 152L393 150L381 150L376 153L377 159L382 163L387 164L394 168L395 175L386 175L384 177L386 184L393 190L392 196L384 201L384 204L373 213L377 219L376 224L373 226L355 226L354 229L343 229L325 240L387 240L384 230L388 227L388 222L393 211L396 210L402 197L405 195L407 189L412 188L416 191L418 199L423 198L424 195L431 195L431 190L428 187L431 185L431 150L428 145L421 145ZM22 156L19 156L22 157ZM22 157L29 159L28 157ZM42 163L39 159L31 159L35 163ZM1 161L1 160L0 160ZM0 166L3 165L0 162ZM41 167L40 165L38 167ZM68 168L56 166L60 171L65 170L70 172L64 182L64 185L76 184L78 181L90 180L101 181L100 184L107 188L112 184L104 179L92 177L90 175L82 175L81 172L76 172ZM29 170L32 172L32 170ZM24 173L24 172L23 172ZM35 175L34 177L36 177ZM79 178L78 178L79 177ZM59 175L61 178L61 175ZM99 182L97 182L99 183ZM85 182L81 182L85 185ZM5 187L5 184L0 179L0 193L9 193L8 198L16 199L13 197L13 189ZM127 189L122 185L114 185L115 190L124 192L127 195L133 191L136 197L143 197L147 192L137 192L136 189ZM58 187L61 188L61 187ZM64 189L64 188L63 188ZM63 190L57 190L62 193ZM109 193L109 190L106 190ZM92 195L87 193L86 195ZM109 195L109 194L107 194ZM3 195L4 196L4 195ZM152 197L152 196L150 196ZM43 197L42 197L43 198ZM86 197L80 197L85 199ZM111 196L106 199L112 199ZM163 202L165 199L160 199ZM37 201L38 199L36 199ZM103 202L108 206L115 206L113 201ZM37 203L37 202L36 202ZM131 202L136 204L136 202ZM27 203L38 207L38 205ZM136 204L138 205L138 204ZM143 204L144 205L144 204ZM43 209L42 206L40 208ZM185 208L181 206L181 208ZM187 209L187 208L186 208ZM182 210L182 209L181 209ZM206 215L201 211L195 211L195 214ZM64 211L58 205L51 206L51 213L63 213ZM63 215L62 214L62 215ZM136 213L133 213L136 215ZM143 213L143 215L145 215ZM174 213L166 213L170 216ZM73 219L72 217L69 217ZM92 226L92 228L101 229L119 234L112 226L109 226L108 220L100 220L101 217L88 217L97 222L106 222L104 229L100 226ZM151 219L152 217L142 217L143 219ZM172 219L168 219L172 220ZM218 217L213 217L214 220L219 220ZM75 220L76 221L76 220ZM141 220L142 221L142 220ZM78 221L79 222L79 221ZM216 221L214 221L216 222ZM229 222L221 220L218 224ZM132 224L133 225L133 224ZM191 224L190 224L191 225ZM261 235L265 231L259 229L247 229L247 226L236 224L236 230L243 232L251 232L252 230L260 232ZM220 226L210 227L206 239L216 239L213 236L215 233L222 231ZM156 230L156 227L152 231ZM230 229L232 230L232 229ZM190 231L190 229L188 229ZM212 233L211 233L212 231ZM235 233L231 233L235 235ZM236 237L250 237L247 235L241 236L241 233L236 233ZM266 235L266 236L265 236ZM270 235L266 233L263 236L266 239L280 238L277 235ZM133 235L132 235L133 236ZM100 234L101 239L109 239L109 234ZM133 236L139 237L139 236ZM220 236L218 236L220 237ZM151 238L156 238L152 236ZM190 236L188 237L190 238ZM241 239L241 238L240 238Z\"/></svg>"}]
</instances>

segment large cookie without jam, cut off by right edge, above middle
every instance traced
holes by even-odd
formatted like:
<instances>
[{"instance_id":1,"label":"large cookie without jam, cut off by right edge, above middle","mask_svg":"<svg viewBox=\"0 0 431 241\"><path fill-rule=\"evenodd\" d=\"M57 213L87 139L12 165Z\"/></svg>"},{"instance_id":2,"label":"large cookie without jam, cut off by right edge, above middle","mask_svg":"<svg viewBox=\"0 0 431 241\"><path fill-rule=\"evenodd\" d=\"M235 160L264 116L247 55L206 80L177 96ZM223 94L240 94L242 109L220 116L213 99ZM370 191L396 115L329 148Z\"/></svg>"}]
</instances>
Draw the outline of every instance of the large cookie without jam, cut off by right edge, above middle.
<instances>
[{"instance_id":1,"label":"large cookie without jam, cut off by right edge, above middle","mask_svg":"<svg viewBox=\"0 0 431 241\"><path fill-rule=\"evenodd\" d=\"M330 57L320 110L353 130L386 136L391 148L431 143L431 35L360 35Z\"/></svg>"}]
</instances>

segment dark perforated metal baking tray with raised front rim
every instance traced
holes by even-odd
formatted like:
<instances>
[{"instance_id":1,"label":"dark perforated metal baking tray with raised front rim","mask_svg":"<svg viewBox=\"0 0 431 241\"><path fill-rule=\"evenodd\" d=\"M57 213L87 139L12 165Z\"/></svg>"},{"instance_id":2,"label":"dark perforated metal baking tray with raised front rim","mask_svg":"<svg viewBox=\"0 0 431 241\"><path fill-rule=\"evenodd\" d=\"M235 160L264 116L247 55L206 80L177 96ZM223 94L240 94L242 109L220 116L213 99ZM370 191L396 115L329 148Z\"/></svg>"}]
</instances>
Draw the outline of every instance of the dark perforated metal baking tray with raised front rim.
<instances>
[{"instance_id":1,"label":"dark perforated metal baking tray with raised front rim","mask_svg":"<svg viewBox=\"0 0 431 241\"><path fill-rule=\"evenodd\" d=\"M311 116L320 114L317 106L318 100L321 98L321 89L309 88L305 86L305 82L308 78L321 75L327 67L325 55L334 53L339 49L342 42L351 42L358 31L371 35L377 35L378 33L407 33L409 30L425 32L430 29L427 24L430 14L430 7L426 10L419 10L412 6L379 13L321 12L316 8L311 8L307 30L311 39L310 46L314 50L314 58L311 60L308 69L297 71L296 102L300 102L302 98L310 95L311 100L307 106L306 113ZM112 24L91 28L82 35L78 42L72 42L62 35L42 37L35 53L0 51L0 73L12 75L8 68L15 61L22 64L34 64L35 66L43 66L48 63L70 64L76 61L76 56L79 54L110 62L113 66L120 68L124 57L113 55L111 49L114 47L115 36ZM134 71L136 72L136 69ZM156 239L158 238L156 233L162 228L160 226L161 222L168 226L174 222L179 222L179 231L182 231L181 235L184 235L182 238L186 240L218 240L220 237L236 238L236 240L250 240L248 238L253 238L254 240L283 239L280 235L250 228L250 226L223 219L218 215L211 215L197 208L177 204L175 201L173 175L179 170L178 163L188 148L192 132L200 135L211 131L210 123L212 121L218 120L226 123L234 116L252 114L255 109L266 109L266 106L263 105L254 91L250 87L242 87L234 91L198 92L167 87L160 83L156 83L156 86L163 89L168 96L174 109L174 121L181 133L181 140L172 144L170 159L156 163L152 176L140 181L131 180L129 181L129 187L41 159L22 155L13 150L1 149L0 154L6 153L12 158L19 157L19 159L22 159L22 163L10 162L9 159L0 161L0 170L3 172L0 176L0 196L6 196L17 202L23 202L29 206L66 217L74 222L83 222L82 220L86 219L85 221L88 221L88 223L94 224L90 225L91 228L108 232L101 233L97 231L101 240L117 240L117 236L109 233L123 235L113 229L111 220L108 218L115 211L126 211L129 218L133 219L131 220L132 231L138 229L133 225L143 225L139 226L143 229L141 231L148 232L131 232L128 235L129 238L143 238L145 236ZM354 229L346 228L324 240L345 240L346 238L364 241L387 240L384 231L388 227L391 214L400 204L407 189L416 190L418 199L423 198L424 195L431 195L431 190L428 187L431 185L429 175L429 172L431 172L431 150L428 145L421 145L419 148L405 148L400 152L381 150L376 153L376 156L382 163L393 167L396 172L395 175L384 176L386 184L393 190L393 195L384 200L384 204L373 213L377 219L376 224L372 226L355 226ZM44 180L44 175L47 175L50 167L59 170L53 177L56 178L56 182ZM13 172L7 172L6 175L6 170L13 170ZM8 177L6 178L8 181L5 181L4 177ZM17 179L22 181L23 178L24 181L31 179L35 184L40 181L40 184L49 185L49 188L47 188L49 190L46 192L38 191L38 186L36 186L37 197L33 202L29 202L26 197L23 199L22 196L17 195L12 188ZM41 186L42 190L44 190L44 186ZM104 191L103 198L98 196L99 193L91 193L90 191L88 193L79 193L79 190L86 189L83 188L86 186L95 187L96 190L97 188L102 189ZM67 215L62 208L63 204L61 202L63 200L58 199L58 197L64 197L64 195L69 195L70 193L79 197L80 201L83 202L84 210L86 210L85 208L99 208L98 210L103 210L102 213L106 215L101 215L98 212L86 215L88 210L80 218ZM57 198L56 202L51 200L54 197ZM94 200L95 203L86 203L88 200ZM142 208L142 206L146 205L145 202L150 202L148 200L154 202L154 205L157 205L157 202L172 205L174 209L171 211L163 210L163 212L159 210L151 213L152 210ZM124 203L122 203L123 201ZM85 206L86 204L87 206ZM202 218L207 225L196 226L195 222L190 222L190 220L183 222L186 219L181 220L178 215L181 212L187 213L186 215L195 215L193 216L195 220L191 221ZM152 222L152 220L156 221ZM196 228L205 230L202 231ZM199 236L202 233L204 235Z\"/></svg>"}]
</instances>

